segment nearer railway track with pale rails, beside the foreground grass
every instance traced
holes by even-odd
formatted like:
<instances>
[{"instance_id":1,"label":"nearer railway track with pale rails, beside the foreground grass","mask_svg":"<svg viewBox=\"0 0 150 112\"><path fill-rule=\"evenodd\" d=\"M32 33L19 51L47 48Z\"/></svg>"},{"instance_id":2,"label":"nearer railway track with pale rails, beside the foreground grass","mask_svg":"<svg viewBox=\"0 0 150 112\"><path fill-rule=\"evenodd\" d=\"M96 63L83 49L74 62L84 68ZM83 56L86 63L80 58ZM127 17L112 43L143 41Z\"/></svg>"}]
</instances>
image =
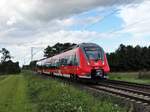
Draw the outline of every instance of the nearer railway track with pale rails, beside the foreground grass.
<instances>
[{"instance_id":1,"label":"nearer railway track with pale rails, beside the foreground grass","mask_svg":"<svg viewBox=\"0 0 150 112\"><path fill-rule=\"evenodd\" d=\"M106 83L98 83L97 85L88 85L89 88L104 91L128 99L130 101L138 102L144 105L150 105L150 93L143 92L130 87L114 86Z\"/></svg>"}]
</instances>

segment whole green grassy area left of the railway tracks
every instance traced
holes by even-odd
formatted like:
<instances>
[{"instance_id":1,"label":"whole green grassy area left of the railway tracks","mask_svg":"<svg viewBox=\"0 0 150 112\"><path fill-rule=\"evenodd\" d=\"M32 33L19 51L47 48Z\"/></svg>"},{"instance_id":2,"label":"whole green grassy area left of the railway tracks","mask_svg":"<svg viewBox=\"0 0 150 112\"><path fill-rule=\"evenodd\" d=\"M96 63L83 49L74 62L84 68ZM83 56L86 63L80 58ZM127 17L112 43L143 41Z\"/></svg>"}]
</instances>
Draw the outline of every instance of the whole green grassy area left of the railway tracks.
<instances>
[{"instance_id":1,"label":"whole green grassy area left of the railway tracks","mask_svg":"<svg viewBox=\"0 0 150 112\"><path fill-rule=\"evenodd\" d=\"M31 72L0 76L0 112L125 112L111 99Z\"/></svg>"}]
</instances>

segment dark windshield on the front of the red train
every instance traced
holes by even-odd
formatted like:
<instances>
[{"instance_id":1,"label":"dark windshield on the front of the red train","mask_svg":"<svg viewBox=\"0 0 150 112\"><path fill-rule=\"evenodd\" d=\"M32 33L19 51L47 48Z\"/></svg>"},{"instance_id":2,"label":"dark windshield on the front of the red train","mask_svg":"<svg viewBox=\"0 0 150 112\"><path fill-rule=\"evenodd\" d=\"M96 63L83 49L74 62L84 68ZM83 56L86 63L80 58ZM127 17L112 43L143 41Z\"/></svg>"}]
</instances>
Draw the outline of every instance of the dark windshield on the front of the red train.
<instances>
[{"instance_id":1,"label":"dark windshield on the front of the red train","mask_svg":"<svg viewBox=\"0 0 150 112\"><path fill-rule=\"evenodd\" d=\"M86 47L84 48L85 54L89 60L103 60L103 52L100 48Z\"/></svg>"}]
</instances>

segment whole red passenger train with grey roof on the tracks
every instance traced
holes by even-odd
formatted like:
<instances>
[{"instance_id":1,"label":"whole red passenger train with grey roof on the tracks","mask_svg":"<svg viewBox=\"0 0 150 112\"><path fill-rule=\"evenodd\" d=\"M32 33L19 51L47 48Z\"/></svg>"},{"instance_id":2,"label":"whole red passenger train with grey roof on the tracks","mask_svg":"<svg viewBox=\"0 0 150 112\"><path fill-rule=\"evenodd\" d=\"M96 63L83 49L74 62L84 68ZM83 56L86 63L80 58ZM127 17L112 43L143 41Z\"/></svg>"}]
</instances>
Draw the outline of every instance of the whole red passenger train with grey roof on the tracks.
<instances>
[{"instance_id":1,"label":"whole red passenger train with grey roof on the tracks","mask_svg":"<svg viewBox=\"0 0 150 112\"><path fill-rule=\"evenodd\" d=\"M104 50L82 43L71 50L37 61L36 71L70 78L106 78L110 71Z\"/></svg>"}]
</instances>

